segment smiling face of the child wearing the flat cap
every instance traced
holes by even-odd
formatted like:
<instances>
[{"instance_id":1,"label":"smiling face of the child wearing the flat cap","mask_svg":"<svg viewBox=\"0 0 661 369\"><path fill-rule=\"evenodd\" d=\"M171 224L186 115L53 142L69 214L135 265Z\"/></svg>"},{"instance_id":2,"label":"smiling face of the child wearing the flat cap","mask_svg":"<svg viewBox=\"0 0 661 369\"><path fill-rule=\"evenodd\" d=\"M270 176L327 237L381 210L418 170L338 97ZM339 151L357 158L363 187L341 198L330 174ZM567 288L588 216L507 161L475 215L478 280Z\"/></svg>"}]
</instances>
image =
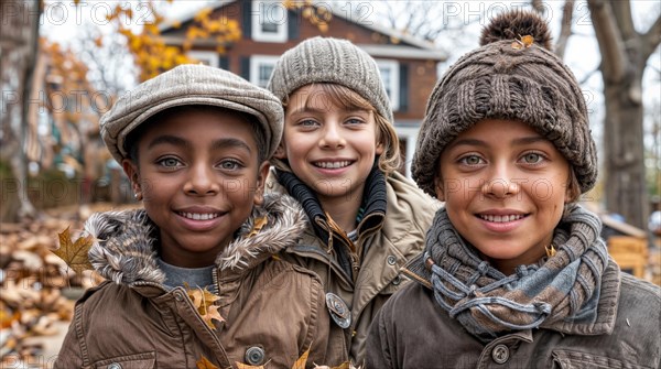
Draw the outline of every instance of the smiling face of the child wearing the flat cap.
<instances>
[{"instance_id":1,"label":"smiling face of the child wearing the flat cap","mask_svg":"<svg viewBox=\"0 0 661 369\"><path fill-rule=\"evenodd\" d=\"M262 200L269 165L258 159L252 126L228 110L180 108L155 117L137 144L137 163L122 164L159 227L161 258L213 264Z\"/></svg>"}]
</instances>

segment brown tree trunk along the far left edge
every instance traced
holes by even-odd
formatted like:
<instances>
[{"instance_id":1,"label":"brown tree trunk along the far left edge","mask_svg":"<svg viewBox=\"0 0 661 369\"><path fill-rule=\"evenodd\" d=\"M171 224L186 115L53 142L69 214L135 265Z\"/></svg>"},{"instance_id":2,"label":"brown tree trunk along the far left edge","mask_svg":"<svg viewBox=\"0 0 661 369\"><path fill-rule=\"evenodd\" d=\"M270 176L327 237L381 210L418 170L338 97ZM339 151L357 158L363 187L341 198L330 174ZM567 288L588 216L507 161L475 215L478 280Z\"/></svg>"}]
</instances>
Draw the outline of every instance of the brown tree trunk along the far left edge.
<instances>
[{"instance_id":1,"label":"brown tree trunk along the far left edge","mask_svg":"<svg viewBox=\"0 0 661 369\"><path fill-rule=\"evenodd\" d=\"M39 0L4 0L0 22L0 161L9 164L12 176L3 177L1 221L35 216L25 191L28 163L24 151L32 74L39 46ZM4 209L12 210L4 214ZM18 209L18 210L15 210Z\"/></svg>"}]
</instances>

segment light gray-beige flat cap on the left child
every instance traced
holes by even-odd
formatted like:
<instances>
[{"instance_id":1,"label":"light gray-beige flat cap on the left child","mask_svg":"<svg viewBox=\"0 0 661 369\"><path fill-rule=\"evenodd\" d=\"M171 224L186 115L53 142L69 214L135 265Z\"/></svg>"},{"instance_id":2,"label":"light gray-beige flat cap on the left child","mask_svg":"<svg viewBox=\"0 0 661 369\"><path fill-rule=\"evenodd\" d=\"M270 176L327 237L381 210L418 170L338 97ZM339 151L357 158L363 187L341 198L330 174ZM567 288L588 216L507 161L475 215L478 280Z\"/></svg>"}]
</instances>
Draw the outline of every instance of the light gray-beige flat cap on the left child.
<instances>
[{"instance_id":1,"label":"light gray-beige flat cap on the left child","mask_svg":"<svg viewBox=\"0 0 661 369\"><path fill-rule=\"evenodd\" d=\"M269 90L219 68L180 65L124 94L101 117L101 137L119 163L128 156L127 135L147 119L184 105L209 105L254 116L263 129L270 158L282 137L282 105Z\"/></svg>"}]
</instances>

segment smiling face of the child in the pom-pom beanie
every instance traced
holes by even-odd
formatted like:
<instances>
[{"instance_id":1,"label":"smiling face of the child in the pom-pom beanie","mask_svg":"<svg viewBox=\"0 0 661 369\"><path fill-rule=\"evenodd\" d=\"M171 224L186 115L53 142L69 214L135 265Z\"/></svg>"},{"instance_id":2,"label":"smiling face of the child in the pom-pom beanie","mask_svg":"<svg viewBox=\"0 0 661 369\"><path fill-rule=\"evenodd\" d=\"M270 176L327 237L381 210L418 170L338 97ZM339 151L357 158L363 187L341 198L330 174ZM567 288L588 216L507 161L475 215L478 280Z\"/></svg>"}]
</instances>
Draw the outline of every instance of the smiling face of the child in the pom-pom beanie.
<instances>
[{"instance_id":1,"label":"smiling face of the child in the pom-pom beanie","mask_svg":"<svg viewBox=\"0 0 661 369\"><path fill-rule=\"evenodd\" d=\"M545 256L567 194L570 164L551 141L519 121L488 119L441 154L436 196L457 231L511 273Z\"/></svg>"}]
</instances>

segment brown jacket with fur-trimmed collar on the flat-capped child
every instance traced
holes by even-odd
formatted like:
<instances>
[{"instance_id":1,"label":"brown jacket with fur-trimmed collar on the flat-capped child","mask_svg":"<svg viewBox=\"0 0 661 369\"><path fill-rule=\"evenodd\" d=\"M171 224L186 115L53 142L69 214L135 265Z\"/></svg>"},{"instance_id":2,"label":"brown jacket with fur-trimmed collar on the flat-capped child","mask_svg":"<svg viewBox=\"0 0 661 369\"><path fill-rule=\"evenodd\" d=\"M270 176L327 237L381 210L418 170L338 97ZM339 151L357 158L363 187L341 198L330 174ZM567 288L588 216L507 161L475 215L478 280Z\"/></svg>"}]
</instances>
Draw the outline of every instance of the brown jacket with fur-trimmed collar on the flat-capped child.
<instances>
[{"instance_id":1,"label":"brown jacket with fur-trimmed collar on the flat-capped child","mask_svg":"<svg viewBox=\"0 0 661 369\"><path fill-rule=\"evenodd\" d=\"M225 318L214 321L216 329L183 287L164 287L142 210L90 218L86 229L101 240L129 237L121 247L106 241L90 250L93 265L108 281L77 302L54 368L196 368L203 358L218 368L291 368L307 349L308 368L325 363L329 317L321 281L277 256L299 238L304 215L285 197L267 196L263 209L268 224L248 236L253 211L216 259L217 305ZM104 230L110 223L119 226Z\"/></svg>"}]
</instances>

